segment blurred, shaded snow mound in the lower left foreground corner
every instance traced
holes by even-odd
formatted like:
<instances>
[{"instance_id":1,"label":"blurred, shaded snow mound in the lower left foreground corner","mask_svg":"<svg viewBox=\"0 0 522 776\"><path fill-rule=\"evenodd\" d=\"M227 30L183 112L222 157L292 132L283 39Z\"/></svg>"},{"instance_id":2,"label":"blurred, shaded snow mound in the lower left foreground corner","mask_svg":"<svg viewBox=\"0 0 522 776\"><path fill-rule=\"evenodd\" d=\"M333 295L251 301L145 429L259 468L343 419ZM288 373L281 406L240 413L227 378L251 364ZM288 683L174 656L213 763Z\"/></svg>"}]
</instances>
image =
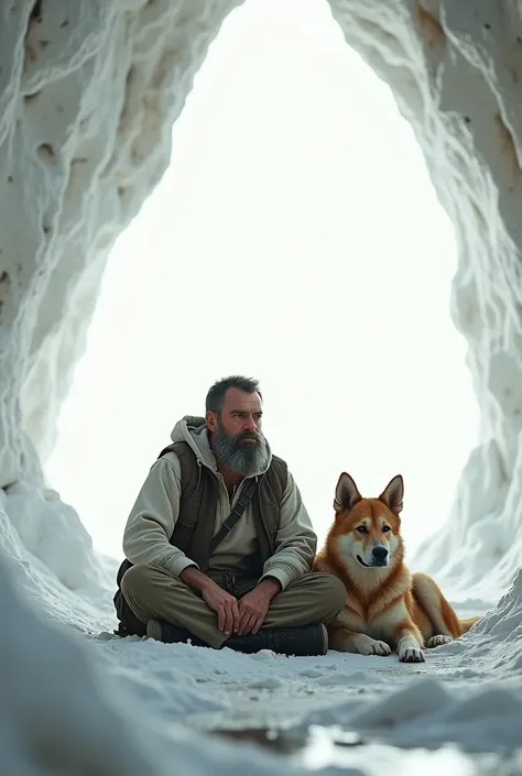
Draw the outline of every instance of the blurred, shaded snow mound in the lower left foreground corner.
<instances>
[{"instance_id":1,"label":"blurred, shaded snow mound in the lower left foreground corner","mask_svg":"<svg viewBox=\"0 0 522 776\"><path fill-rule=\"evenodd\" d=\"M110 679L102 682L85 651L15 595L3 564L0 583L9 624L0 641L2 773L104 776L115 763L128 774L146 772L150 743L140 729L126 733L123 709L116 713L104 698L113 691Z\"/></svg>"}]
</instances>

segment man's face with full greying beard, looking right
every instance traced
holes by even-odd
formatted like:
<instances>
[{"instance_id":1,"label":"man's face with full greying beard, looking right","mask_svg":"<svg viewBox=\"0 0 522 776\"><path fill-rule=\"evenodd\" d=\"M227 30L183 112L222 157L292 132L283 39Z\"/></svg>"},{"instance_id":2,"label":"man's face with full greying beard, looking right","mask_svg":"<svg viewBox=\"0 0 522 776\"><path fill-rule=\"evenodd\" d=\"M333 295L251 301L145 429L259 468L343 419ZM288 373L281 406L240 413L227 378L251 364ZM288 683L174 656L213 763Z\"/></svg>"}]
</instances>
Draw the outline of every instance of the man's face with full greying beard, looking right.
<instances>
[{"instance_id":1,"label":"man's face with full greying beard, looking right","mask_svg":"<svg viewBox=\"0 0 522 776\"><path fill-rule=\"evenodd\" d=\"M220 413L207 413L216 457L229 471L248 477L264 468L268 445L261 433L261 397L228 389Z\"/></svg>"}]
</instances>

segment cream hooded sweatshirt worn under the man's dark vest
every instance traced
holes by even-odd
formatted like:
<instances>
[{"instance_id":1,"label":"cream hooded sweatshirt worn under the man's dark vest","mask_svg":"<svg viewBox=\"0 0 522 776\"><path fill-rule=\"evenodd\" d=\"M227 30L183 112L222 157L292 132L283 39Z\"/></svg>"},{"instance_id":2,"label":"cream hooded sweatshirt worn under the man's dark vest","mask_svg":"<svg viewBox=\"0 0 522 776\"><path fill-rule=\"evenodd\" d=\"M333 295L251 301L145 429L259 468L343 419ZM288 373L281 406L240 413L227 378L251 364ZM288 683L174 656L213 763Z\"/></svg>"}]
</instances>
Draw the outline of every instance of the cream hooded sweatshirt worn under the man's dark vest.
<instances>
[{"instance_id":1,"label":"cream hooded sweatshirt worn under the man's dark vest","mask_svg":"<svg viewBox=\"0 0 522 776\"><path fill-rule=\"evenodd\" d=\"M198 462L210 469L219 482L214 535L230 514L249 479L263 474L270 467L272 452L262 469L244 478L230 499L216 459L210 448L208 430L203 417L186 415L171 434L173 441L187 442ZM167 452L155 461L144 481L131 510L123 534L123 553L131 564L155 564L175 577L189 566L197 564L181 549L170 544L180 514L181 467L175 452ZM251 504L232 531L224 538L209 558L208 575L220 571L241 570L242 561L252 556L258 547L254 516ZM289 471L286 489L281 501L280 527L275 537L275 551L262 569L262 576L274 577L281 588L308 573L317 548L314 533L301 493Z\"/></svg>"}]
</instances>

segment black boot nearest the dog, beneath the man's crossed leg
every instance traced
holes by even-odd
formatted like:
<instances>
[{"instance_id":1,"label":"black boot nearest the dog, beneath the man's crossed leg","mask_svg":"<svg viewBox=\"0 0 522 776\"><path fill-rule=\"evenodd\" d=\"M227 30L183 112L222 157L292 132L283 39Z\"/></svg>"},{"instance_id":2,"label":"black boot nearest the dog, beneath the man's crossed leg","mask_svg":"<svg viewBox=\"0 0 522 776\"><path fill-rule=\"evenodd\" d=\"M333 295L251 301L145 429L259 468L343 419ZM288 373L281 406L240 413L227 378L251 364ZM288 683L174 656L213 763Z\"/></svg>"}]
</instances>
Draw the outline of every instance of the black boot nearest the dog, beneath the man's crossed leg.
<instances>
[{"instance_id":1,"label":"black boot nearest the dog, beneath the man's crossed leg","mask_svg":"<svg viewBox=\"0 0 522 776\"><path fill-rule=\"evenodd\" d=\"M326 655L328 634L324 625L304 625L303 627L265 627L247 636L229 636L224 647L252 654L260 649L272 649L278 655L298 657Z\"/></svg>"}]
</instances>

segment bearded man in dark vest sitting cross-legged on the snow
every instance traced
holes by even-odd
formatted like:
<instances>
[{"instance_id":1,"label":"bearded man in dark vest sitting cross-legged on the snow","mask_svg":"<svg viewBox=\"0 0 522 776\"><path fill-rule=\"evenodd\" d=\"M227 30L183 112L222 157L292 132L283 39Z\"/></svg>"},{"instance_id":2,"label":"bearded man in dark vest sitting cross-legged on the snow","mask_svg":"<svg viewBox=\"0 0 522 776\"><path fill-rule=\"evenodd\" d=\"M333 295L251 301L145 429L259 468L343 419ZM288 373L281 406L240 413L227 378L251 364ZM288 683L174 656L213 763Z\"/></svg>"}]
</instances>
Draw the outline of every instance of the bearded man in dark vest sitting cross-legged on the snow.
<instances>
[{"instance_id":1,"label":"bearded man in dark vest sitting cross-legged on the snow","mask_svg":"<svg viewBox=\"0 0 522 776\"><path fill-rule=\"evenodd\" d=\"M118 635L326 654L345 586L311 572L317 536L261 418L258 381L235 375L175 425L126 525Z\"/></svg>"}]
</instances>

